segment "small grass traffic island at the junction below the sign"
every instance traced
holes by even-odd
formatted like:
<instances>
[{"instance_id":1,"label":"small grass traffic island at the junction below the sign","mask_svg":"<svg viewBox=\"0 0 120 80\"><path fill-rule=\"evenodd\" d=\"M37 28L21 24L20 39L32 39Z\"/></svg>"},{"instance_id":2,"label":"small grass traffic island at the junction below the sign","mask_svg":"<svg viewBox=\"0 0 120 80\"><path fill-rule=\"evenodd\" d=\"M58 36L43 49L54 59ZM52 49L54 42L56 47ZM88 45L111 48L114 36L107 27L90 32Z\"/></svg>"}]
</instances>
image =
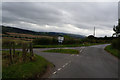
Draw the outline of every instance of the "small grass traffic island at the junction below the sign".
<instances>
[{"instance_id":1,"label":"small grass traffic island at the junction below the sign","mask_svg":"<svg viewBox=\"0 0 120 80\"><path fill-rule=\"evenodd\" d=\"M51 49L45 50L43 52L50 52L50 53L66 53L66 54L79 54L78 50L75 49Z\"/></svg>"}]
</instances>

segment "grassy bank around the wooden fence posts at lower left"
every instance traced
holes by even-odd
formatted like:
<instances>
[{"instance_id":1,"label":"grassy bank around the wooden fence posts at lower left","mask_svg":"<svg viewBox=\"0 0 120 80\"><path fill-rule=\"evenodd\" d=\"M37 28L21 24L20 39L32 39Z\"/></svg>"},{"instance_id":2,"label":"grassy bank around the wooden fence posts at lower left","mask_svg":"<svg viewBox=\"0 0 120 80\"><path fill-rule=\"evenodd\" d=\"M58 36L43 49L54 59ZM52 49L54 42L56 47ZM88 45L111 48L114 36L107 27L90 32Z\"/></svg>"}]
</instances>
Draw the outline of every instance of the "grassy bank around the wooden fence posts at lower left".
<instances>
[{"instance_id":1,"label":"grassy bank around the wooden fence posts at lower left","mask_svg":"<svg viewBox=\"0 0 120 80\"><path fill-rule=\"evenodd\" d=\"M21 52L20 52L21 53ZM8 51L2 51L2 78L40 78L49 66L50 62L41 56L35 55L34 61L22 62L15 56L14 63L9 64ZM17 61L16 61L17 60Z\"/></svg>"}]
</instances>

